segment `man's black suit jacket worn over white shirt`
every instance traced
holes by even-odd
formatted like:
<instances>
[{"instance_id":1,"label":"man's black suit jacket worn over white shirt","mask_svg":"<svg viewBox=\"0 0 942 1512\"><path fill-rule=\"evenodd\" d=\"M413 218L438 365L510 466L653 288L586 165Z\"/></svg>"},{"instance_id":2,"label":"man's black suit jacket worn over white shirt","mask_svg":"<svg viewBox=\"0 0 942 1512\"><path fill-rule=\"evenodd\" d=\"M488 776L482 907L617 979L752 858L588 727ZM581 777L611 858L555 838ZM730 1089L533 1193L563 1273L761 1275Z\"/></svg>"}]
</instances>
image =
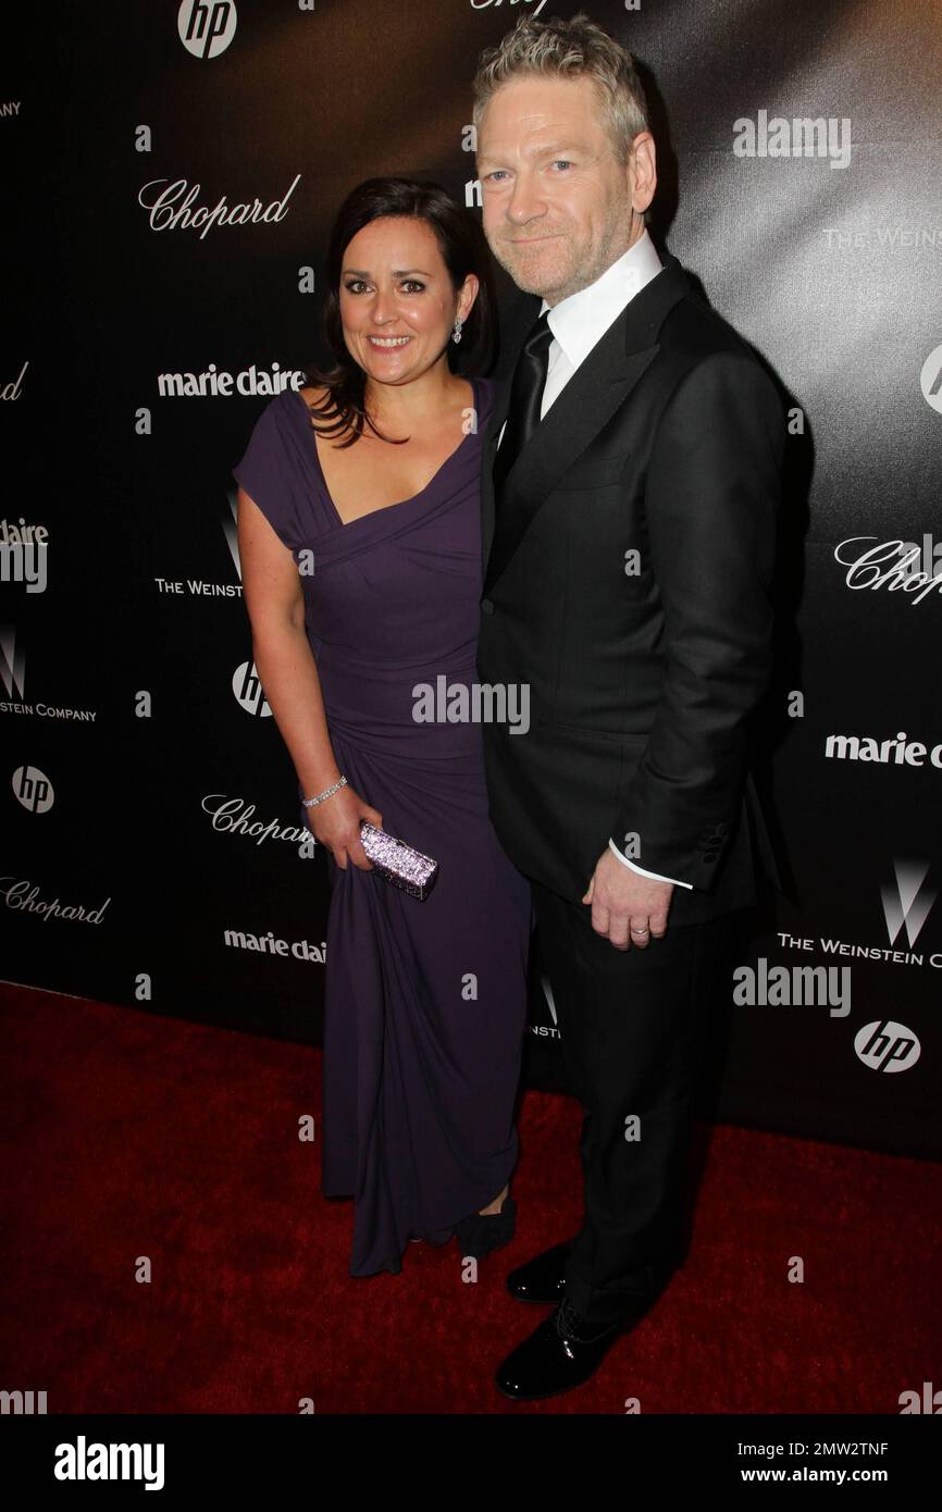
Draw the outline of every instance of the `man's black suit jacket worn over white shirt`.
<instances>
[{"instance_id":1,"label":"man's black suit jacket worn over white shirt","mask_svg":"<svg viewBox=\"0 0 942 1512\"><path fill-rule=\"evenodd\" d=\"M756 860L777 880L747 724L770 674L785 414L748 348L662 262L497 500L510 383L496 393L478 674L529 688L526 733L484 724L510 859L579 901L612 838L691 885L671 900L685 924L751 903Z\"/></svg>"}]
</instances>

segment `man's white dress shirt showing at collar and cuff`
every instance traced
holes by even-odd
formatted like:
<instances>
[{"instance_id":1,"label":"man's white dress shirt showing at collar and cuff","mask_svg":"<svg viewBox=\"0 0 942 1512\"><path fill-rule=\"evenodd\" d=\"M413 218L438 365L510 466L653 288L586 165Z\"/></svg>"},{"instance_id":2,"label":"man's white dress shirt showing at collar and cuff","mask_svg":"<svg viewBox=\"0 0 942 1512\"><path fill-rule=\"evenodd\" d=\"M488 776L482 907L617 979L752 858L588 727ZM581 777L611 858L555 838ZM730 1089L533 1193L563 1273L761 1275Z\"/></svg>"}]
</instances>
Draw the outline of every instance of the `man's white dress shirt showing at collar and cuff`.
<instances>
[{"instance_id":1,"label":"man's white dress shirt showing at collar and cuff","mask_svg":"<svg viewBox=\"0 0 942 1512\"><path fill-rule=\"evenodd\" d=\"M606 268L594 283L570 293L566 299L559 299L559 304L552 310L543 299L540 314L549 310L547 325L553 333L553 340L549 345L540 419L559 398L579 363L585 361L593 346L605 336L626 304L644 289L646 283L656 278L661 266L655 243L644 230L638 240L626 253L621 253L621 257ZM504 440L504 431L500 431L500 440ZM497 442L499 445L500 442ZM635 862L621 854L614 841L609 839L608 845L612 854L631 871L637 871L643 877L653 877L655 881L671 881L676 888L691 888L693 891L689 881L676 881L674 877L662 877L661 872L637 866Z\"/></svg>"}]
</instances>

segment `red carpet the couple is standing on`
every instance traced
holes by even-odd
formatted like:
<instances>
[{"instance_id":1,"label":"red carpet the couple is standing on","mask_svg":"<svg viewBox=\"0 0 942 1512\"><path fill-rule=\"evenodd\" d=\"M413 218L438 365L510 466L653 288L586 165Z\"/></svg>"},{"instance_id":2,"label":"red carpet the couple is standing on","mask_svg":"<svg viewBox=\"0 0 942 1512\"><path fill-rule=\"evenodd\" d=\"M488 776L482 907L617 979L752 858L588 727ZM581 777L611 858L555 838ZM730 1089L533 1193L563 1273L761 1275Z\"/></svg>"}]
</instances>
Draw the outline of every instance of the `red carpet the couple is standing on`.
<instances>
[{"instance_id":1,"label":"red carpet the couple is standing on","mask_svg":"<svg viewBox=\"0 0 942 1512\"><path fill-rule=\"evenodd\" d=\"M895 1414L942 1385L936 1164L717 1128L655 1311L585 1387L517 1406L493 1370L544 1309L504 1276L578 1228L573 1102L526 1095L517 1237L476 1284L454 1243L352 1279L351 1204L319 1194L319 1145L298 1140L319 1051L0 992L0 1383L45 1390L50 1414Z\"/></svg>"}]
</instances>

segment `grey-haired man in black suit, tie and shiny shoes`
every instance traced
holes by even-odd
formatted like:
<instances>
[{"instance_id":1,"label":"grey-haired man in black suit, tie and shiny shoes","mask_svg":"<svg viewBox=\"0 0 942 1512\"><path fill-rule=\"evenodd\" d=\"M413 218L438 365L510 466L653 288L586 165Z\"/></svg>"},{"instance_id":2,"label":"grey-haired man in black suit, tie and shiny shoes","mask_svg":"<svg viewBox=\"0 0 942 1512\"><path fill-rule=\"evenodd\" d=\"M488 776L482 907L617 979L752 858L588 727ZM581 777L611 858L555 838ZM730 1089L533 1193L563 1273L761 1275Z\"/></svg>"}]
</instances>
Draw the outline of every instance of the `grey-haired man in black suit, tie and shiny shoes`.
<instances>
[{"instance_id":1,"label":"grey-haired man in black suit, tie and shiny shoes","mask_svg":"<svg viewBox=\"0 0 942 1512\"><path fill-rule=\"evenodd\" d=\"M582 1228L508 1278L553 1303L497 1371L535 1399L585 1380L679 1258L711 971L774 866L747 721L785 414L646 230L655 142L620 44L522 20L482 54L475 124L488 243L540 296L484 437L478 671L531 697L526 733L484 726L488 795L585 1113Z\"/></svg>"}]
</instances>

